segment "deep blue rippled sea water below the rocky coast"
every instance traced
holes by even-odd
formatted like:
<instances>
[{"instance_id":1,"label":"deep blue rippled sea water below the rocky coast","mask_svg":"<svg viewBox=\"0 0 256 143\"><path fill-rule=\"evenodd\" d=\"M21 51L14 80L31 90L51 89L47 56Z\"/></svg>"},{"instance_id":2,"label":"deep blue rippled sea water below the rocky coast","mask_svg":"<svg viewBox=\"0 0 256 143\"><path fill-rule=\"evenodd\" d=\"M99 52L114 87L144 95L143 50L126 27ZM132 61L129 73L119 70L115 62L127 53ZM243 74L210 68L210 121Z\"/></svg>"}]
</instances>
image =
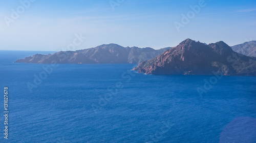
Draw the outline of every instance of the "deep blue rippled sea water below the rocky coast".
<instances>
[{"instance_id":1,"label":"deep blue rippled sea water below the rocky coast","mask_svg":"<svg viewBox=\"0 0 256 143\"><path fill-rule=\"evenodd\" d=\"M12 63L34 53L47 52L0 51L10 111L8 140L0 118L0 142L256 142L256 77L223 76L200 96L212 76ZM0 107L4 115L4 97Z\"/></svg>"}]
</instances>

